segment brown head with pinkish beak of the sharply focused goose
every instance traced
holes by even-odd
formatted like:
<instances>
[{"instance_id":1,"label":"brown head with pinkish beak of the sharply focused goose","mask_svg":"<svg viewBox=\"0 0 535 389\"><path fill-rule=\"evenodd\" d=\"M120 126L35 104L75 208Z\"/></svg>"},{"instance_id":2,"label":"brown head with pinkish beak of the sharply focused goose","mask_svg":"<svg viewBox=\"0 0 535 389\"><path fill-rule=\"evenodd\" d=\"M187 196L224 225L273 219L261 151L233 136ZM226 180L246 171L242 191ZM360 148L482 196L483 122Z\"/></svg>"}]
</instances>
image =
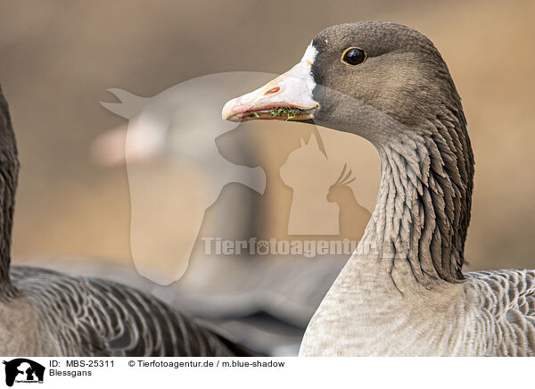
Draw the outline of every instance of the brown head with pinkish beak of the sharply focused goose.
<instances>
[{"instance_id":1,"label":"brown head with pinkish beak of the sharply focused goose","mask_svg":"<svg viewBox=\"0 0 535 389\"><path fill-rule=\"evenodd\" d=\"M324 29L297 65L226 103L222 116L314 122L377 144L400 128L421 132L444 106L465 121L431 40L396 23L366 21Z\"/></svg>"}]
</instances>

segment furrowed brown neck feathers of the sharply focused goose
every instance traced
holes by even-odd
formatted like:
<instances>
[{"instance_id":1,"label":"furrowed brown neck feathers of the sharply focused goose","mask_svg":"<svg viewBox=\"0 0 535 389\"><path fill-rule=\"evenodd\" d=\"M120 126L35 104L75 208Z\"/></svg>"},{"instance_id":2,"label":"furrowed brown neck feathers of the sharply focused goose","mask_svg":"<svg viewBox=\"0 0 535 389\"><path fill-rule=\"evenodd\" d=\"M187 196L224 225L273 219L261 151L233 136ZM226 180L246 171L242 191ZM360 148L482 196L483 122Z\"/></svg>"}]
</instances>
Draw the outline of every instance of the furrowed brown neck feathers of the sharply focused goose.
<instances>
[{"instance_id":1,"label":"furrowed brown neck feathers of the sharply focused goose","mask_svg":"<svg viewBox=\"0 0 535 389\"><path fill-rule=\"evenodd\" d=\"M377 145L382 180L357 256L407 261L420 283L463 279L473 190L464 116L443 111L425 128Z\"/></svg>"}]
</instances>

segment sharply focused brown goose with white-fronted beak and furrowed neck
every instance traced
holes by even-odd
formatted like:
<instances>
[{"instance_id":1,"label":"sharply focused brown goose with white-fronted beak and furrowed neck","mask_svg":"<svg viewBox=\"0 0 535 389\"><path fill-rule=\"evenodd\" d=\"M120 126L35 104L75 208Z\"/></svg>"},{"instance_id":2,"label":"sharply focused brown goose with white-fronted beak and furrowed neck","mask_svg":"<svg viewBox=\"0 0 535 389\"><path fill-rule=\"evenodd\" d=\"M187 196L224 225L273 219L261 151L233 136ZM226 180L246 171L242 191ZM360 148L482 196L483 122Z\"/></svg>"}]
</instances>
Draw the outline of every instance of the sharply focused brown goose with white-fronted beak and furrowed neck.
<instances>
[{"instance_id":1,"label":"sharply focused brown goose with white-fronted beak and furrowed neck","mask_svg":"<svg viewBox=\"0 0 535 389\"><path fill-rule=\"evenodd\" d=\"M309 322L301 356L534 356L535 271L463 273L474 161L449 69L391 22L321 31L282 76L225 104L226 120L315 122L366 138L374 212Z\"/></svg>"}]
</instances>

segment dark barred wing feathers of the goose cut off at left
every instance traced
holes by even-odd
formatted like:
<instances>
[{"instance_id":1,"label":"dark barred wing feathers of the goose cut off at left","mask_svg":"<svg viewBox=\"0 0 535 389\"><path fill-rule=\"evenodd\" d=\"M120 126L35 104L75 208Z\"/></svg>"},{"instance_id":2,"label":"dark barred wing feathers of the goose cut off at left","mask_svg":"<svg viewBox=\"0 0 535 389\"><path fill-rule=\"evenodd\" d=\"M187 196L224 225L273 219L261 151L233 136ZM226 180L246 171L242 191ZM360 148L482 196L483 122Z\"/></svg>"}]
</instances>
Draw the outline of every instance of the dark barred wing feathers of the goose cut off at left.
<instances>
[{"instance_id":1,"label":"dark barred wing feathers of the goose cut off at left","mask_svg":"<svg viewBox=\"0 0 535 389\"><path fill-rule=\"evenodd\" d=\"M128 286L48 269L16 267L11 275L65 355L253 354Z\"/></svg>"}]
</instances>

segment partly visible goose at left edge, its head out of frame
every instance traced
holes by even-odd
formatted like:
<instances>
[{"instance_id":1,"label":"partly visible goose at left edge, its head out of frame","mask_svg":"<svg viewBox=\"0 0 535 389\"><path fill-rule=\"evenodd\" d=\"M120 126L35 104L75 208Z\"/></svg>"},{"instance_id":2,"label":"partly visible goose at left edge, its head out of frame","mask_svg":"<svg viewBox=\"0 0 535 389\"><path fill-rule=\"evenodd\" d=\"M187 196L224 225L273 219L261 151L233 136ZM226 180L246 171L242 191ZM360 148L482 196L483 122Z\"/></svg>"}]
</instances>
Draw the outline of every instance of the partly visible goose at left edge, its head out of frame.
<instances>
[{"instance_id":1,"label":"partly visible goose at left edge, its head out of frame","mask_svg":"<svg viewBox=\"0 0 535 389\"><path fill-rule=\"evenodd\" d=\"M136 289L48 269L11 267L17 155L0 88L1 355L251 355Z\"/></svg>"}]
</instances>

